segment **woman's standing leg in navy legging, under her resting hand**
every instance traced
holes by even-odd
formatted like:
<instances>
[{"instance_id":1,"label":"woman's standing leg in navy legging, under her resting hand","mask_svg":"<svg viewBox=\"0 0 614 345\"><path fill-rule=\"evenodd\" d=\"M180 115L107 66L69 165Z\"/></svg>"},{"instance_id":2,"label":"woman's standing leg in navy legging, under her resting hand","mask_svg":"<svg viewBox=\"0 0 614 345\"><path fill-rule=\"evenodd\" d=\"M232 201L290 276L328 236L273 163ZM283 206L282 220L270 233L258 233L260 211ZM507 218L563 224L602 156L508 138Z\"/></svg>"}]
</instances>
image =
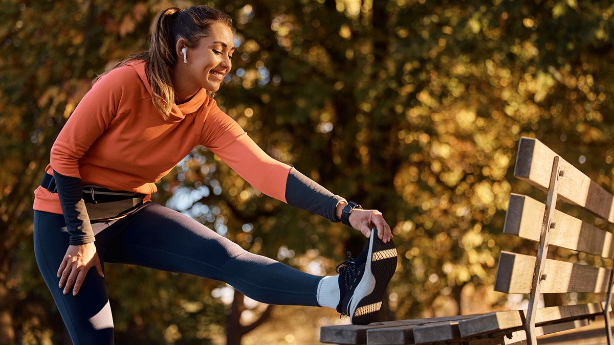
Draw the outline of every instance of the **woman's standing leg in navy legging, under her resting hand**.
<instances>
[{"instance_id":1,"label":"woman's standing leg in navy legging, under her resting hand","mask_svg":"<svg viewBox=\"0 0 614 345\"><path fill-rule=\"evenodd\" d=\"M111 306L104 278L96 273L95 268L88 271L76 296L72 295L72 290L64 295L63 289L58 287L60 284L60 278L57 276L58 268L68 249L68 232L62 231L64 226L63 215L34 211L36 263L68 328L72 343L113 344ZM98 242L95 244L98 248Z\"/></svg>"}]
</instances>

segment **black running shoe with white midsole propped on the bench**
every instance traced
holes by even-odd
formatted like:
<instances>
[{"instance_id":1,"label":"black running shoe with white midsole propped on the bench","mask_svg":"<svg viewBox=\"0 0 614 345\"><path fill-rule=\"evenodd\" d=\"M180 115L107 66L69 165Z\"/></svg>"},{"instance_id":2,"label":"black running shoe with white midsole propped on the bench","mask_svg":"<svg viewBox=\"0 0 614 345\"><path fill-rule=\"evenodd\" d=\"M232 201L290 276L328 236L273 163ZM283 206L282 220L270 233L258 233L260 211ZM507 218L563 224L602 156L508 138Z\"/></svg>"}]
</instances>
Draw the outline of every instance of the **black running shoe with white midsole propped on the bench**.
<instances>
[{"instance_id":1,"label":"black running shoe with white midsole propped on the bench","mask_svg":"<svg viewBox=\"0 0 614 345\"><path fill-rule=\"evenodd\" d=\"M371 237L365 250L366 261L358 268L351 254L348 254L348 260L338 269L340 274L343 274L343 277L339 277L340 289L341 285L346 286L345 291L341 290L337 311L349 316L355 325L366 325L375 320L386 286L397 268L397 248L392 240L388 243L382 242L378 238L376 228L371 229Z\"/></svg>"}]
</instances>

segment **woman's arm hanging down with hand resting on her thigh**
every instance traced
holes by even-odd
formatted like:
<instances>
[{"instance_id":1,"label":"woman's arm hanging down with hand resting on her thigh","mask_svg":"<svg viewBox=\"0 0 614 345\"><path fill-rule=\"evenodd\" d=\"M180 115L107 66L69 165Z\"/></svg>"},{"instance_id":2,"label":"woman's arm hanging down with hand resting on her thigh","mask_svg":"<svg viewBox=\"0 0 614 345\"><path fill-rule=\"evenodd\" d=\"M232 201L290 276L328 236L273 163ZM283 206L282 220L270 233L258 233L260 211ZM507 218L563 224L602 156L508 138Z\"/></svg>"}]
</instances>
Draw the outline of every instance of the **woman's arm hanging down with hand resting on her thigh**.
<instances>
[{"instance_id":1,"label":"woman's arm hanging down with hand resting on her thigh","mask_svg":"<svg viewBox=\"0 0 614 345\"><path fill-rule=\"evenodd\" d=\"M115 69L96 82L79 102L51 149L51 166L69 234L69 247L58 268L64 294L79 292L91 267L104 277L90 218L85 209L79 160L107 130L117 114L125 88L134 85L136 72Z\"/></svg>"}]
</instances>

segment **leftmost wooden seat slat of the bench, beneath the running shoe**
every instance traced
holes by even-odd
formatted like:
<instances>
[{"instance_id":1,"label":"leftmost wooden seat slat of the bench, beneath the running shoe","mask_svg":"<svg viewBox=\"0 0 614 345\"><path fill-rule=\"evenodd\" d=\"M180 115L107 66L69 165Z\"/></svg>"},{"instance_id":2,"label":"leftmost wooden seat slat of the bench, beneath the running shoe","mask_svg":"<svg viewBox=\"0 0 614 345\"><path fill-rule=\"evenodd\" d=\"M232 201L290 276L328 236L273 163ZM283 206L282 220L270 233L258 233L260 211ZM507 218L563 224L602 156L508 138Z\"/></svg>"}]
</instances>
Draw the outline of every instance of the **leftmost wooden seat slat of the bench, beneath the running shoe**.
<instances>
[{"instance_id":1,"label":"leftmost wooden seat slat of the bench, beneath the running shoe","mask_svg":"<svg viewBox=\"0 0 614 345\"><path fill-rule=\"evenodd\" d=\"M432 319L395 320L386 322L373 322L368 325L335 325L320 328L321 343L338 344L366 344L367 331L379 328L400 327L411 325L425 325L432 322L457 320L462 316L433 317ZM464 316L467 317L467 316Z\"/></svg>"}]
</instances>

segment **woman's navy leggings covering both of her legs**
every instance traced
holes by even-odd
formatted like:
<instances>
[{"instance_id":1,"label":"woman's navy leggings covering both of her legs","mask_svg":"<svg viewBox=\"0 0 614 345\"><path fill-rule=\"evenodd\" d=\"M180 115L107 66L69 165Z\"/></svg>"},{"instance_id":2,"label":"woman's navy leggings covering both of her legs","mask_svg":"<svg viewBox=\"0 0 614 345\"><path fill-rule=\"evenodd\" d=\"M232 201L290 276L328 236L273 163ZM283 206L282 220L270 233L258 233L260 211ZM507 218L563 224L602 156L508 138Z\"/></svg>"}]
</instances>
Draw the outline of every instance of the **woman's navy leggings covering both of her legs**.
<instances>
[{"instance_id":1,"label":"woman's navy leggings covering both of her legs","mask_svg":"<svg viewBox=\"0 0 614 345\"><path fill-rule=\"evenodd\" d=\"M96 234L104 262L128 263L227 282L270 304L317 306L320 276L303 273L247 252L196 220L156 203ZM34 254L72 342L113 344L113 319L104 278L90 268L76 296L58 287L58 268L68 249L64 216L34 211ZM72 290L71 290L72 291Z\"/></svg>"}]
</instances>

